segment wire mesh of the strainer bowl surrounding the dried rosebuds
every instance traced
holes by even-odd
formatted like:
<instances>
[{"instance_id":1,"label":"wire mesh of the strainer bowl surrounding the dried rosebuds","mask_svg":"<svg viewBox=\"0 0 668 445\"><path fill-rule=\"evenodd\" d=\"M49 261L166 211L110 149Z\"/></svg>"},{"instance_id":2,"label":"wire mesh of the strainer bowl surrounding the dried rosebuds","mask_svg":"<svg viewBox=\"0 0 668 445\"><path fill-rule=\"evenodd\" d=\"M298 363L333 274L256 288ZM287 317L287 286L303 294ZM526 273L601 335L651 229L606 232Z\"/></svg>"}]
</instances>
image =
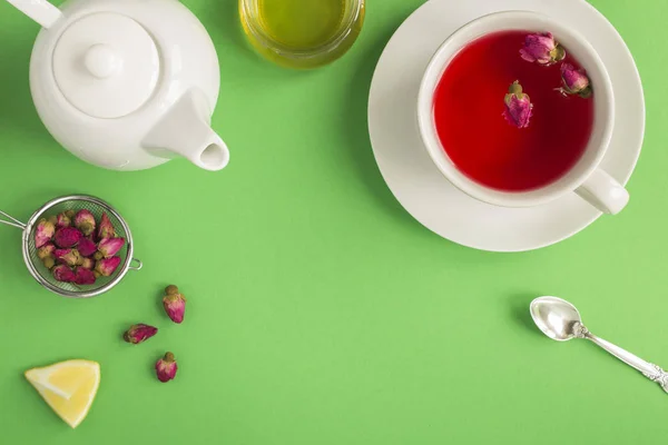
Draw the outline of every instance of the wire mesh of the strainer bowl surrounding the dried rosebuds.
<instances>
[{"instance_id":1,"label":"wire mesh of the strainer bowl surrounding the dried rosebuds","mask_svg":"<svg viewBox=\"0 0 668 445\"><path fill-rule=\"evenodd\" d=\"M117 254L120 257L121 261L116 271L110 277L99 277L94 285L79 286L71 283L60 283L56 280L56 278L53 278L51 271L45 267L41 259L39 259L39 257L37 256L37 248L35 247L35 231L37 229L37 222L42 218L49 218L50 216L56 216L67 210L79 211L84 209L90 211L95 216L95 219L98 222L98 225L100 218L102 217L102 212L106 212L109 217L109 220L114 225L114 228L116 229L116 236L126 239L126 244L124 245L122 249ZM131 258L128 257L128 245L129 243L131 243L131 240L128 239L128 235L125 230L125 224L120 220L120 218L111 208L85 199L70 199L63 202L55 204L43 209L39 215L36 215L33 218L32 227L30 228L30 235L27 239L23 240L23 243L28 244L27 247L29 260L32 263L35 270L41 277L41 279L59 289L67 290L70 293L90 293L107 286L129 266L129 261L131 261Z\"/></svg>"}]
</instances>

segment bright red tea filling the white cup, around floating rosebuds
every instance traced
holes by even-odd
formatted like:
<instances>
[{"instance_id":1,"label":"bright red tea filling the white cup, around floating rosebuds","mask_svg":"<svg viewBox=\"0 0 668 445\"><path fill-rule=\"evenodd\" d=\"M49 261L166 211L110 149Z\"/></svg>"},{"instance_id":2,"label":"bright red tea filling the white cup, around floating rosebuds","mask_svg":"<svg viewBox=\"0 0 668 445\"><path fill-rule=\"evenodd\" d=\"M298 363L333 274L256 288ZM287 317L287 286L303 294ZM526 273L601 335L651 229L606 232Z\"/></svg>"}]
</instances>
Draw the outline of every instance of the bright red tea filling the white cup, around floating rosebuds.
<instances>
[{"instance_id":1,"label":"bright red tea filling the white cup, around floating rosebuds","mask_svg":"<svg viewBox=\"0 0 668 445\"><path fill-rule=\"evenodd\" d=\"M531 190L562 177L582 156L593 127L595 96L557 90L563 86L561 66L579 70L578 60L546 40L544 48L532 48L529 61L520 52L529 34L536 33L503 31L471 42L446 67L434 93L446 155L472 180L499 190ZM515 80L533 106L522 128L503 118L504 95Z\"/></svg>"}]
</instances>

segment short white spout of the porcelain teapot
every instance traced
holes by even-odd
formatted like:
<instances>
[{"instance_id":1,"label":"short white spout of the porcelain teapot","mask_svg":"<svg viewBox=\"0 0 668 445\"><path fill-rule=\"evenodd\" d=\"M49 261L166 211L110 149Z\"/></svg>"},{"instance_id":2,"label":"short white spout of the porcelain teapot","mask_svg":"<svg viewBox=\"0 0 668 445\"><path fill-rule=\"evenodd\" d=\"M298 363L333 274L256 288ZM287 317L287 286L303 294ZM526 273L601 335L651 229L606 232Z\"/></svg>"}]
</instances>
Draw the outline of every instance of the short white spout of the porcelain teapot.
<instances>
[{"instance_id":1,"label":"short white spout of the porcelain teapot","mask_svg":"<svg viewBox=\"0 0 668 445\"><path fill-rule=\"evenodd\" d=\"M197 167L218 171L229 162L229 150L210 127L204 93L186 92L144 139L144 148L163 158L183 156Z\"/></svg>"}]
</instances>

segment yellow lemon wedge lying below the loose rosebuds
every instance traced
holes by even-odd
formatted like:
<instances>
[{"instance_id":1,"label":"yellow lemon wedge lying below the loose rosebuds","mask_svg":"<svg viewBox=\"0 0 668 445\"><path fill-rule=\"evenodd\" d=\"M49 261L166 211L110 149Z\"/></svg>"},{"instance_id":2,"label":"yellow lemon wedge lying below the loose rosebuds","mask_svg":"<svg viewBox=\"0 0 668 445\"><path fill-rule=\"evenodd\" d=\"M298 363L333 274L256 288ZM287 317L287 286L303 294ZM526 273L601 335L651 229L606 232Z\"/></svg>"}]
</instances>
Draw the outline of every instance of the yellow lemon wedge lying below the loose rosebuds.
<instances>
[{"instance_id":1,"label":"yellow lemon wedge lying below the loose rosebuds","mask_svg":"<svg viewBox=\"0 0 668 445\"><path fill-rule=\"evenodd\" d=\"M89 360L68 360L26 372L26 378L69 426L86 418L98 387L100 365Z\"/></svg>"}]
</instances>

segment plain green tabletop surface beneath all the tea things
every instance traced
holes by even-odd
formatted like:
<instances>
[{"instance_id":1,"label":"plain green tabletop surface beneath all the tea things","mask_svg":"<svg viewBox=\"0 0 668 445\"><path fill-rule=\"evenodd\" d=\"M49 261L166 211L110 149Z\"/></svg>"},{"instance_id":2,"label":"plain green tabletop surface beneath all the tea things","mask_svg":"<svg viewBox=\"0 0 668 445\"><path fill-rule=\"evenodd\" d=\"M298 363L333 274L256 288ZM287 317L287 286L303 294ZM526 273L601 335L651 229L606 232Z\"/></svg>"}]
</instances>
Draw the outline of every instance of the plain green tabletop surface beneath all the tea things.
<instances>
[{"instance_id":1,"label":"plain green tabletop surface beneath all the tea things","mask_svg":"<svg viewBox=\"0 0 668 445\"><path fill-rule=\"evenodd\" d=\"M422 2L371 0L346 57L295 72L248 49L235 1L187 1L220 58L214 126L233 161L218 174L184 160L106 171L61 149L29 93L38 26L0 2L0 208L24 219L56 196L99 196L127 218L145 263L102 297L59 298L26 270L19 230L0 226L0 443L665 441L658 385L586 342L550 342L527 309L538 295L568 298L593 332L668 366L668 3L592 1L646 88L629 207L557 246L501 255L420 226L372 156L373 69ZM170 283L189 298L180 326L159 303ZM139 322L160 333L124 344ZM165 350L180 366L169 384L151 370ZM102 367L76 431L22 377L68 358Z\"/></svg>"}]
</instances>

